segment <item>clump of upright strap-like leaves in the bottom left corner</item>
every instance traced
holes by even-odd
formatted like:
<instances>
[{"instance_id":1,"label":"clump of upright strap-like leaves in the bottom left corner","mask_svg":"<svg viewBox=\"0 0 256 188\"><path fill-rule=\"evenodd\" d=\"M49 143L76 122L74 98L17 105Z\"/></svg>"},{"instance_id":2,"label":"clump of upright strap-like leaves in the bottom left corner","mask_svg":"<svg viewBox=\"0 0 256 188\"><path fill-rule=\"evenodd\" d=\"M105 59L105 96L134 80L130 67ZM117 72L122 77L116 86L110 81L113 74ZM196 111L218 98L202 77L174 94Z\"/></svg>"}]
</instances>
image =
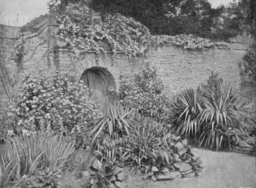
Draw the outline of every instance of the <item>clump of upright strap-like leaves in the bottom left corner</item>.
<instances>
[{"instance_id":1,"label":"clump of upright strap-like leaves in the bottom left corner","mask_svg":"<svg viewBox=\"0 0 256 188\"><path fill-rule=\"evenodd\" d=\"M61 176L72 166L74 141L52 133L8 140L0 145L1 187L61 187Z\"/></svg>"}]
</instances>

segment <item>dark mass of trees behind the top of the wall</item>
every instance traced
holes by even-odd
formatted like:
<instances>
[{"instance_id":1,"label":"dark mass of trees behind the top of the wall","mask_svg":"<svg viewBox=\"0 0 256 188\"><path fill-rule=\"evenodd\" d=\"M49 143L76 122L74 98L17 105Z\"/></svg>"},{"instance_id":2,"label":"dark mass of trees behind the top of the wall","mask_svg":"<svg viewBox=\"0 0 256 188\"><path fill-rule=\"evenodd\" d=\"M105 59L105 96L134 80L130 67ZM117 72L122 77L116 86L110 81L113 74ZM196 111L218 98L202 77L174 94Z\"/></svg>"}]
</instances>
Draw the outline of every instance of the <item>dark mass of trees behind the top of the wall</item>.
<instances>
[{"instance_id":1,"label":"dark mass of trees behind the top of the wall","mask_svg":"<svg viewBox=\"0 0 256 188\"><path fill-rule=\"evenodd\" d=\"M124 15L148 27L151 34L194 34L212 40L228 40L243 33L246 1L211 8L207 0L52 0L50 10L70 4L86 5L100 15ZM250 17L248 17L250 20Z\"/></svg>"}]
</instances>

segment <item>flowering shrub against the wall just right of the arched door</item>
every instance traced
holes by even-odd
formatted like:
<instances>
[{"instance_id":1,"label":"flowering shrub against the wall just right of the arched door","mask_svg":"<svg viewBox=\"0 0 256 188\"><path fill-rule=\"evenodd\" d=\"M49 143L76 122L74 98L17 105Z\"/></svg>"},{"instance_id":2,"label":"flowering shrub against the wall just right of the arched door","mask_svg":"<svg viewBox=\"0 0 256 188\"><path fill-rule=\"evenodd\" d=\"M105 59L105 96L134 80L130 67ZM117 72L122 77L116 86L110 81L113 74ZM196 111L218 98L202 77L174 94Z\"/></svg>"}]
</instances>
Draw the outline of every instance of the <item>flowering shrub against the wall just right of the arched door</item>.
<instances>
[{"instance_id":1,"label":"flowering shrub against the wall just right of the arched door","mask_svg":"<svg viewBox=\"0 0 256 188\"><path fill-rule=\"evenodd\" d=\"M134 79L120 78L120 101L135 108L148 117L165 119L169 112L169 98L164 92L165 84L159 76L158 68L145 62L145 68L136 73Z\"/></svg>"}]
</instances>

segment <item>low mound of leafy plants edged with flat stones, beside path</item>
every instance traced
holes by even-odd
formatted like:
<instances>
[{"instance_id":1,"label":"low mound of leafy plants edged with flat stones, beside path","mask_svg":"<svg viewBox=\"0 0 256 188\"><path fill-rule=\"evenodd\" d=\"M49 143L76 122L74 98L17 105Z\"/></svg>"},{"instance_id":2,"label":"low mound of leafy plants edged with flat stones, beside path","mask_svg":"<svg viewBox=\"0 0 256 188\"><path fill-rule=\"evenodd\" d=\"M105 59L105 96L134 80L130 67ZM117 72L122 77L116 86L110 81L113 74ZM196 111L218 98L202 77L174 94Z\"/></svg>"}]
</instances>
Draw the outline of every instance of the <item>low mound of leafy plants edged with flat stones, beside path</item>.
<instances>
[{"instance_id":1,"label":"low mound of leafy plants edged with flat stones, beside path","mask_svg":"<svg viewBox=\"0 0 256 188\"><path fill-rule=\"evenodd\" d=\"M120 115L116 114L116 118L122 119ZM164 122L157 122L134 112L131 117L125 118L128 131L124 126L120 126L123 134L114 131L119 129L112 128L111 120L106 121L104 126L95 125L95 129L101 133L93 132L97 132L98 136L94 150L100 161L111 161L113 164L132 168L138 171L142 178L154 181L187 177L188 170L192 177L198 176L203 167L202 161L193 157L187 140L175 136ZM115 124L116 127L119 127L118 125ZM110 132L114 132L115 138L109 136Z\"/></svg>"}]
</instances>

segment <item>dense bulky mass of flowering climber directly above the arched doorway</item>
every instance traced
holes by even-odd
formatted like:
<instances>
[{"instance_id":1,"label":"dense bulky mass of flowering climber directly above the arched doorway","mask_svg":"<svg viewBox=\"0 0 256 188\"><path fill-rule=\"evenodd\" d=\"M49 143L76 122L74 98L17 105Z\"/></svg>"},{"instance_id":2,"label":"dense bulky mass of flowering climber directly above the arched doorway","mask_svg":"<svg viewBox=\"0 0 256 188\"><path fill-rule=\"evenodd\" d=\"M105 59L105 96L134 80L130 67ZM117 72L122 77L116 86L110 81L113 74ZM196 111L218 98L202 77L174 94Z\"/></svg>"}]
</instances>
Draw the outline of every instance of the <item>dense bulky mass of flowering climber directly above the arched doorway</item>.
<instances>
[{"instance_id":1,"label":"dense bulky mass of flowering climber directly above the arched doorway","mask_svg":"<svg viewBox=\"0 0 256 188\"><path fill-rule=\"evenodd\" d=\"M122 51L131 59L154 44L147 27L132 18L120 14L99 15L79 3L68 4L58 16L58 22L58 36L76 55L93 50L99 59L100 52L105 52L99 43L102 41L109 45L113 55Z\"/></svg>"}]
</instances>

